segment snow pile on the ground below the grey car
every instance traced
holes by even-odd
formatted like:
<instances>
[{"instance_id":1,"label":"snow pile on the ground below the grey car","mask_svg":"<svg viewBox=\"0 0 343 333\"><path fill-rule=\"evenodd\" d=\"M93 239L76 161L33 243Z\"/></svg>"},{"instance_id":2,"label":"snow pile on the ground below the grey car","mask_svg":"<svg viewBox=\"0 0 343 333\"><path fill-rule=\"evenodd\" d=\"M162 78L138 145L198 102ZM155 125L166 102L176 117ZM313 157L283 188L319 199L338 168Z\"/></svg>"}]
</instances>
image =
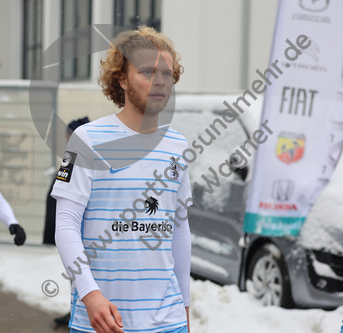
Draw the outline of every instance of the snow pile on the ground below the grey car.
<instances>
[{"instance_id":1,"label":"snow pile on the ground below the grey car","mask_svg":"<svg viewBox=\"0 0 343 333\"><path fill-rule=\"evenodd\" d=\"M335 311L263 307L237 286L191 283L191 331L196 333L335 333L343 307Z\"/></svg>"}]
</instances>

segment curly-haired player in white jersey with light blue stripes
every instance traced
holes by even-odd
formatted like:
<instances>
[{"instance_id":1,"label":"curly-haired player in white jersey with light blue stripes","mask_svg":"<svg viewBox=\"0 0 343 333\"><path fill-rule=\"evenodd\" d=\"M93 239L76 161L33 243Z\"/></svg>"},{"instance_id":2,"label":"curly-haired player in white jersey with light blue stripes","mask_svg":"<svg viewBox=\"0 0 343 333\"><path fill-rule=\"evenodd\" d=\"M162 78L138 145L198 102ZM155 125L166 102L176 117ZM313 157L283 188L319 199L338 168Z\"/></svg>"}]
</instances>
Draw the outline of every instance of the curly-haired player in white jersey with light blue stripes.
<instances>
[{"instance_id":1,"label":"curly-haired player in white jersey with light blue stripes","mask_svg":"<svg viewBox=\"0 0 343 333\"><path fill-rule=\"evenodd\" d=\"M75 277L69 326L186 333L191 244L180 202L191 191L186 162L176 158L187 141L159 126L183 67L172 41L152 28L123 32L114 44L99 82L124 109L74 132L52 192L56 245Z\"/></svg>"}]
</instances>

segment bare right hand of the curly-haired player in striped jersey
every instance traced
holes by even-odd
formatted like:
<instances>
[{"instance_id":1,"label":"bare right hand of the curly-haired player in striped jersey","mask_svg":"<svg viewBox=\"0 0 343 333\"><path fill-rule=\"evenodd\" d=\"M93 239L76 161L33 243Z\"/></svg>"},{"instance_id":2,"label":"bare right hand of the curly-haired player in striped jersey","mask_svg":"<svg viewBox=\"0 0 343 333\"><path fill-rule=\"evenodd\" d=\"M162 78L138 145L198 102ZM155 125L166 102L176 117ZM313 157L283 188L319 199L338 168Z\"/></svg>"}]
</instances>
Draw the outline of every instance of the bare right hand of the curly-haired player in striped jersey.
<instances>
[{"instance_id":1,"label":"bare right hand of the curly-haired player in striped jersey","mask_svg":"<svg viewBox=\"0 0 343 333\"><path fill-rule=\"evenodd\" d=\"M91 326L97 333L124 333L121 315L117 307L99 290L91 291L82 302L85 304Z\"/></svg>"}]
</instances>

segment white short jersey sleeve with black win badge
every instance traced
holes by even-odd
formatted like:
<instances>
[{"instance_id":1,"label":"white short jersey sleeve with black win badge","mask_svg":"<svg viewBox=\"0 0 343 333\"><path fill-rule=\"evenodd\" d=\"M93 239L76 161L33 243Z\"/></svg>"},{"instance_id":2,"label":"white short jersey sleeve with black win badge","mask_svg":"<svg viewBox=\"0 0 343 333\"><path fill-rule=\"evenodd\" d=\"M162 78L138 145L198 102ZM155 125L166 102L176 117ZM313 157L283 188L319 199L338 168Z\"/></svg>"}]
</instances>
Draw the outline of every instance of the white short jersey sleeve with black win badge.
<instances>
[{"instance_id":1,"label":"white short jersey sleeve with black win badge","mask_svg":"<svg viewBox=\"0 0 343 333\"><path fill-rule=\"evenodd\" d=\"M94 174L93 149L84 126L70 137L51 196L87 206Z\"/></svg>"}]
</instances>

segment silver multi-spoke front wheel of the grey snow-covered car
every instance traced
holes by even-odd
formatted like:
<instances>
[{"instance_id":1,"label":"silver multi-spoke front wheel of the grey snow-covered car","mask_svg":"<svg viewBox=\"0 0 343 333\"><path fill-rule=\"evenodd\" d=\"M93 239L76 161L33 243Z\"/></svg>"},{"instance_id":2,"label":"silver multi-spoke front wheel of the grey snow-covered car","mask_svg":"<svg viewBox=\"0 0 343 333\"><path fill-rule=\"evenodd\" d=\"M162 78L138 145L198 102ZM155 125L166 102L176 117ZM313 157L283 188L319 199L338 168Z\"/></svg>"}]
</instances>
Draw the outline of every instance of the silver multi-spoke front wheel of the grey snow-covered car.
<instances>
[{"instance_id":1,"label":"silver multi-spoke front wheel of the grey snow-covered car","mask_svg":"<svg viewBox=\"0 0 343 333\"><path fill-rule=\"evenodd\" d=\"M274 244L264 245L253 255L248 266L246 290L265 306L293 307L287 266Z\"/></svg>"}]
</instances>

